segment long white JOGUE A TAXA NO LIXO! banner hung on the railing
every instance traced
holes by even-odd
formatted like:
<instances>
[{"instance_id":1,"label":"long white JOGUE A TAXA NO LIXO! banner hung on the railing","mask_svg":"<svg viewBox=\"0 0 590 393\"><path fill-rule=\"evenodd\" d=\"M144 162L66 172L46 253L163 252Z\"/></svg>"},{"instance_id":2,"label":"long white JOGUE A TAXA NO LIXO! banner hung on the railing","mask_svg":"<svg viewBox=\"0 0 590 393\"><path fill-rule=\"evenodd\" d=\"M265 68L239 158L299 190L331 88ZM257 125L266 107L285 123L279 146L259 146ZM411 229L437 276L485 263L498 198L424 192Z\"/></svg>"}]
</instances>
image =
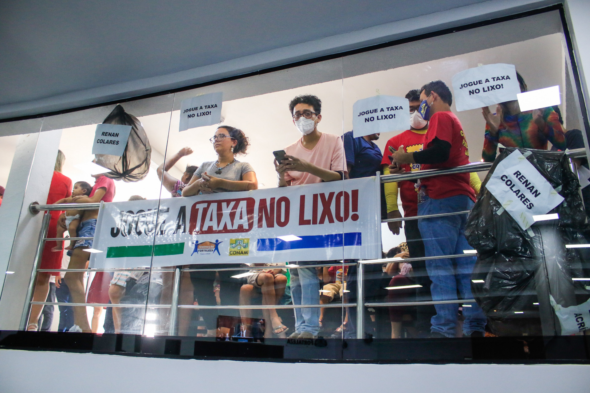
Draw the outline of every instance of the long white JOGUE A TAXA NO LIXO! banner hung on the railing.
<instances>
[{"instance_id":1,"label":"long white JOGUE A TAXA NO LIXO! banner hung on the railing","mask_svg":"<svg viewBox=\"0 0 590 393\"><path fill-rule=\"evenodd\" d=\"M380 206L376 177L104 203L90 267L375 259Z\"/></svg>"}]
</instances>

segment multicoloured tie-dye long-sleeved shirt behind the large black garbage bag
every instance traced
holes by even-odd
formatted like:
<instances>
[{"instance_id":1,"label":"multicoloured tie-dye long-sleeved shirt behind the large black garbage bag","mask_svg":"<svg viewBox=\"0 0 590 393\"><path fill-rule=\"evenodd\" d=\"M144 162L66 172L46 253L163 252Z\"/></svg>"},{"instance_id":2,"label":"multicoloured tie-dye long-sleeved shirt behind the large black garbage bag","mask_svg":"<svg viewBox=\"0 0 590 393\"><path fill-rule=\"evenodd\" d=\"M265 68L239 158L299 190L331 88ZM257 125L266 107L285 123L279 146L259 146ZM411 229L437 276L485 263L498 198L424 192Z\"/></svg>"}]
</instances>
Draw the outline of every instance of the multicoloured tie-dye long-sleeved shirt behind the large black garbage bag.
<instances>
[{"instance_id":1,"label":"multicoloured tie-dye long-sleeved shirt behind the large black garbage bag","mask_svg":"<svg viewBox=\"0 0 590 393\"><path fill-rule=\"evenodd\" d=\"M506 127L500 128L496 137L491 136L490 127L486 123L486 136L481 158L486 162L494 161L498 143L506 147L547 150L547 142L549 141L559 150L565 150L565 135L559 123L558 114L552 107L548 107L543 111L543 119L545 119L546 126L544 131L540 131L533 121L531 112L506 115L504 116Z\"/></svg>"}]
</instances>

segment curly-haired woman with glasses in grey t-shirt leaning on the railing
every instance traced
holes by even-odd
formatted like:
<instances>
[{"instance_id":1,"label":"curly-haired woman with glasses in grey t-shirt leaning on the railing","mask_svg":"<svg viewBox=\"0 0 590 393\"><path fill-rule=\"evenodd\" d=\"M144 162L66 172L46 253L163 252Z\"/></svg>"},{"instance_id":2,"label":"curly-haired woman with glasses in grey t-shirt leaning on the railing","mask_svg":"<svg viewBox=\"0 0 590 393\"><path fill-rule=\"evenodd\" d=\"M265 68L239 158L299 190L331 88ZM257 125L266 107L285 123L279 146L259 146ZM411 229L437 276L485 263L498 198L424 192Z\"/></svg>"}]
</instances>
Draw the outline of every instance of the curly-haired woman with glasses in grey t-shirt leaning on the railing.
<instances>
[{"instance_id":1,"label":"curly-haired woman with glasses in grey t-shirt leaning on the railing","mask_svg":"<svg viewBox=\"0 0 590 393\"><path fill-rule=\"evenodd\" d=\"M250 146L250 142L244 133L238 128L220 126L210 141L213 144L215 153L217 153L217 160L205 162L195 171L189 184L182 190L182 196L258 189L258 180L253 167L248 163L242 163L235 159L236 154L245 155L248 146ZM240 267L240 263L225 263L223 265L208 263L192 266L194 269L200 269L190 272L194 297L199 305L217 305L213 290L213 283L216 279L219 281L221 304L224 306L239 304L242 281L232 278L232 276L243 272L240 270L227 270L235 267ZM193 299L181 299L181 303L185 304L192 304L193 301ZM229 310L224 310L225 315L228 314L227 311ZM218 327L218 310L200 309L199 313L203 317L204 325L207 327L207 336L215 336ZM191 314L191 309L181 308L179 311L180 335L188 333ZM235 316L239 315L237 313Z\"/></svg>"}]
</instances>

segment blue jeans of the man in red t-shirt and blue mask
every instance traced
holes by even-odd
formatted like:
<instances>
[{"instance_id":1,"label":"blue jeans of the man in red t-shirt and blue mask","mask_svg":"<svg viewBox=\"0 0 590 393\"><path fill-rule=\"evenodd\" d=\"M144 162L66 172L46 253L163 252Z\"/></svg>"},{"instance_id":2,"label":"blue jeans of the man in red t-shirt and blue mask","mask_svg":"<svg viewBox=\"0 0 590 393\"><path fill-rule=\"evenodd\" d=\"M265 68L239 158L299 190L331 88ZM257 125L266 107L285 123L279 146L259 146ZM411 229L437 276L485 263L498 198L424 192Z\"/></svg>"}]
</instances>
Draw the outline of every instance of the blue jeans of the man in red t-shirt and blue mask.
<instances>
[{"instance_id":1,"label":"blue jeans of the man in red t-shirt and blue mask","mask_svg":"<svg viewBox=\"0 0 590 393\"><path fill-rule=\"evenodd\" d=\"M418 215L461 212L470 210L473 201L466 195L457 195L443 199L421 197L418 203ZM463 254L463 250L472 250L465 238L467 214L457 216L419 219L418 227L424 241L426 256ZM473 256L446 259L428 259L426 270L432 280L430 290L432 300L457 300L457 291L461 299L473 299L471 293L471 273L476 258ZM486 326L486 315L476 303L471 307L463 307L463 334L470 335L474 331L483 332ZM457 328L458 303L437 304L434 306L437 315L431 318L431 331L454 337Z\"/></svg>"}]
</instances>

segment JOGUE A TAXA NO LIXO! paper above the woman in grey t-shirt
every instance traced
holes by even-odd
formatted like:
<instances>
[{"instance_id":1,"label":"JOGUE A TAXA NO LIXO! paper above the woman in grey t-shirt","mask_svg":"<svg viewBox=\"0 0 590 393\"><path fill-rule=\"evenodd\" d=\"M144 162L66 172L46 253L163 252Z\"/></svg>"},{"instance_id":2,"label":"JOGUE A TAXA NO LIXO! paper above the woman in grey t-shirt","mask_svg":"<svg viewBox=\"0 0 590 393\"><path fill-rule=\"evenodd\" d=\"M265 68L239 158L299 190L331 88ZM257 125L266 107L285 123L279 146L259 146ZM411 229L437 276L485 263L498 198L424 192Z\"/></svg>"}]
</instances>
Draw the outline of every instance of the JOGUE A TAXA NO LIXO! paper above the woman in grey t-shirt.
<instances>
[{"instance_id":1,"label":"JOGUE A TAXA NO LIXO! paper above the woman in grey t-shirt","mask_svg":"<svg viewBox=\"0 0 590 393\"><path fill-rule=\"evenodd\" d=\"M218 124L221 121L222 100L221 92L197 95L182 100L178 131Z\"/></svg>"}]
</instances>

